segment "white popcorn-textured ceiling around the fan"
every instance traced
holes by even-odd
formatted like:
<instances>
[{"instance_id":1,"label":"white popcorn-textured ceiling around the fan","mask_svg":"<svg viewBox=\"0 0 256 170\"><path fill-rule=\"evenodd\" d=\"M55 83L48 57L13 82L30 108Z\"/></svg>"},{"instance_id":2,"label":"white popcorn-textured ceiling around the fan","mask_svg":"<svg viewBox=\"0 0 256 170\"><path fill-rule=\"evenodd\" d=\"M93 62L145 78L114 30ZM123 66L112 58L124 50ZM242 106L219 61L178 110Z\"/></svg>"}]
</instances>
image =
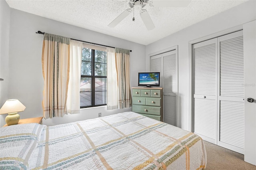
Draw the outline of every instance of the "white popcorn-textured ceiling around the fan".
<instances>
[{"instance_id":1,"label":"white popcorn-textured ceiling around the fan","mask_svg":"<svg viewBox=\"0 0 256 170\"><path fill-rule=\"evenodd\" d=\"M246 0L192 0L187 7L145 6L156 28L148 31L135 10L116 27L108 24L129 8L120 0L6 0L10 8L148 45ZM44 31L44 30L42 30Z\"/></svg>"}]
</instances>

